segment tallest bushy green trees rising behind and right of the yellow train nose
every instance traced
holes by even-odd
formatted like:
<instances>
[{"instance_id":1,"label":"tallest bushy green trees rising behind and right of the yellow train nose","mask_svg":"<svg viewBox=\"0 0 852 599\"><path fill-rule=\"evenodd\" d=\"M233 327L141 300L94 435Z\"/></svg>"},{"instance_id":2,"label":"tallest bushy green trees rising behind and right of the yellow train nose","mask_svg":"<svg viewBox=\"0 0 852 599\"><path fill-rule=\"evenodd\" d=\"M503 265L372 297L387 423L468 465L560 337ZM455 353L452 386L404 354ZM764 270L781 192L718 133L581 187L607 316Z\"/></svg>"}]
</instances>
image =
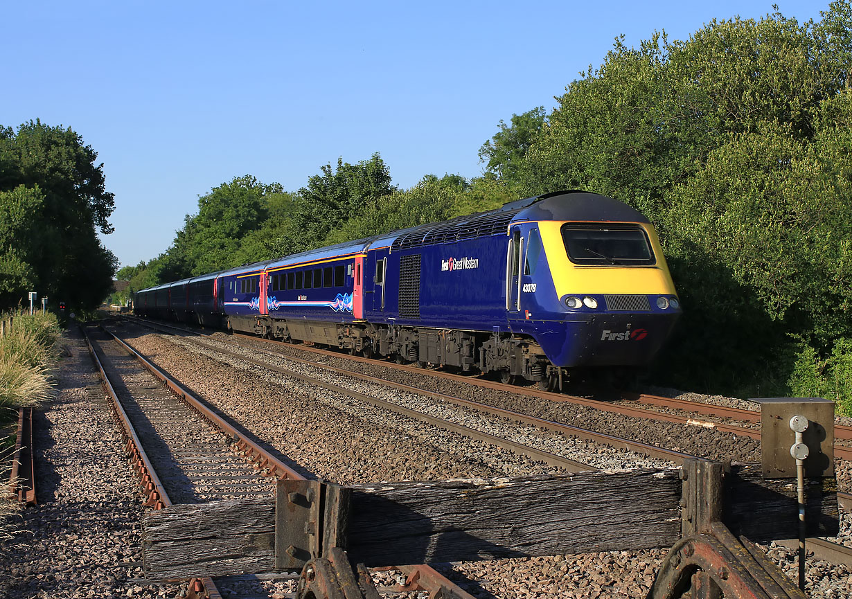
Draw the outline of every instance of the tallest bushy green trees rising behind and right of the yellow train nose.
<instances>
[{"instance_id":1,"label":"tallest bushy green trees rising behind and right of the yellow train nose","mask_svg":"<svg viewBox=\"0 0 852 599\"><path fill-rule=\"evenodd\" d=\"M507 181L590 189L657 223L685 308L658 380L786 393L803 347L825 359L852 336L848 0L822 16L617 40Z\"/></svg>"}]
</instances>

